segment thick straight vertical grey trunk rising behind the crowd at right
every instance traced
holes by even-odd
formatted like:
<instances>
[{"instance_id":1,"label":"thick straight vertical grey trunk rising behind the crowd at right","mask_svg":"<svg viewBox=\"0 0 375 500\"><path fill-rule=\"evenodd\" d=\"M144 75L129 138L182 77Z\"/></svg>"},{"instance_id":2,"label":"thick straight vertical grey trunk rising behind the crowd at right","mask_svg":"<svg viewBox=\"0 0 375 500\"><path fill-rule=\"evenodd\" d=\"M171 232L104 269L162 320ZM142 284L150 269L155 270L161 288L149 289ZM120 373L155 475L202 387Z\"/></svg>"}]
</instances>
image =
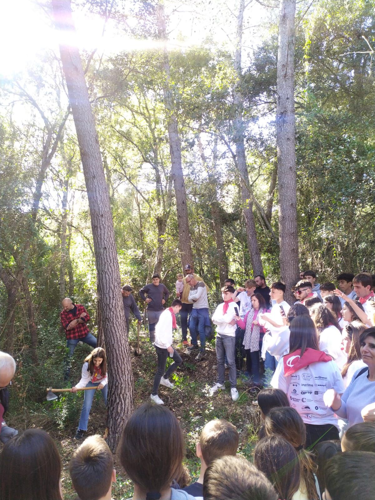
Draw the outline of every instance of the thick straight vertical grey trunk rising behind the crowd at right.
<instances>
[{"instance_id":1,"label":"thick straight vertical grey trunk rising behind the crowd at right","mask_svg":"<svg viewBox=\"0 0 375 500\"><path fill-rule=\"evenodd\" d=\"M280 275L286 300L298 280L297 195L294 130L294 17L295 0L281 0L277 51L276 142Z\"/></svg>"}]
</instances>

